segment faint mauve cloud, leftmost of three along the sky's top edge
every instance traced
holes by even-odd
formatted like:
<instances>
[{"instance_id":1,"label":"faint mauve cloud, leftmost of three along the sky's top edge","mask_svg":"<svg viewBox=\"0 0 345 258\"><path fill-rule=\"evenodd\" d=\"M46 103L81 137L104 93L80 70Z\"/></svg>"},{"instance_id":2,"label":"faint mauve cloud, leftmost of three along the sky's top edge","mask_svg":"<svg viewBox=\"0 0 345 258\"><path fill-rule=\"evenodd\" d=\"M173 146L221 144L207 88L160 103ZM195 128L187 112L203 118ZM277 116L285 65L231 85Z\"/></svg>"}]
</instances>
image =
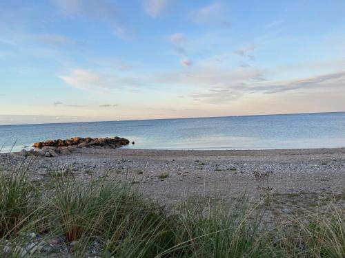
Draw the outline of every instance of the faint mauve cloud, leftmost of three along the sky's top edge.
<instances>
[{"instance_id":1,"label":"faint mauve cloud, leftmost of three along the sky's top edge","mask_svg":"<svg viewBox=\"0 0 345 258\"><path fill-rule=\"evenodd\" d=\"M117 6L110 0L55 0L57 6L69 15L97 19L117 19Z\"/></svg>"}]
</instances>

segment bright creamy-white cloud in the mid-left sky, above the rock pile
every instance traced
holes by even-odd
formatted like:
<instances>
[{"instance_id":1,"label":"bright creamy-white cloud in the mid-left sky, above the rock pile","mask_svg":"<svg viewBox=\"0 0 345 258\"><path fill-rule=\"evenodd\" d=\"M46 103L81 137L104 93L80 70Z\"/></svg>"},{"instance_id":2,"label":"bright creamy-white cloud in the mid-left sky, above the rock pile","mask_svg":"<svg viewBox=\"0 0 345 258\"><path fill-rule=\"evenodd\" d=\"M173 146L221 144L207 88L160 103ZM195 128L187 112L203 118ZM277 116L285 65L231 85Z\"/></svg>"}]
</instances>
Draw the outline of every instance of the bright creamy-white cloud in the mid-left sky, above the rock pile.
<instances>
[{"instance_id":1,"label":"bright creamy-white cloud in the mid-left sky, above the rock pile","mask_svg":"<svg viewBox=\"0 0 345 258\"><path fill-rule=\"evenodd\" d=\"M104 76L86 69L74 69L69 75L60 76L60 78L66 84L78 89L105 89L108 87Z\"/></svg>"}]
</instances>

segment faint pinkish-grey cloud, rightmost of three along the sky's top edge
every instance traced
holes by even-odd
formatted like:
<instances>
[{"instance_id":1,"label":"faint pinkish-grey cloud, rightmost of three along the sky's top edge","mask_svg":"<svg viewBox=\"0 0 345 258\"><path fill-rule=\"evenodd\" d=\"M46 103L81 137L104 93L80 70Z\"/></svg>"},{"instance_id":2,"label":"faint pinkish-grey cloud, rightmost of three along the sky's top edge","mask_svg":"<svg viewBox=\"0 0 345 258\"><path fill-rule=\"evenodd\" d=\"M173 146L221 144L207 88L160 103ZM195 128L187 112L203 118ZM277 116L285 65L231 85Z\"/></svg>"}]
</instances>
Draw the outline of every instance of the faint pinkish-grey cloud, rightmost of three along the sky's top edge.
<instances>
[{"instance_id":1,"label":"faint pinkish-grey cloud, rightmost of three along the sky's top edge","mask_svg":"<svg viewBox=\"0 0 345 258\"><path fill-rule=\"evenodd\" d=\"M226 5L220 1L215 1L209 6L200 8L193 14L193 19L197 23L221 24L226 27L230 26L230 21L225 14Z\"/></svg>"}]
</instances>

